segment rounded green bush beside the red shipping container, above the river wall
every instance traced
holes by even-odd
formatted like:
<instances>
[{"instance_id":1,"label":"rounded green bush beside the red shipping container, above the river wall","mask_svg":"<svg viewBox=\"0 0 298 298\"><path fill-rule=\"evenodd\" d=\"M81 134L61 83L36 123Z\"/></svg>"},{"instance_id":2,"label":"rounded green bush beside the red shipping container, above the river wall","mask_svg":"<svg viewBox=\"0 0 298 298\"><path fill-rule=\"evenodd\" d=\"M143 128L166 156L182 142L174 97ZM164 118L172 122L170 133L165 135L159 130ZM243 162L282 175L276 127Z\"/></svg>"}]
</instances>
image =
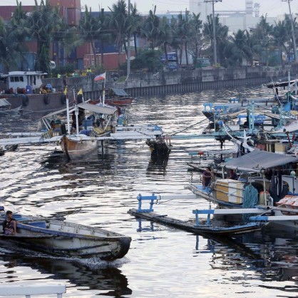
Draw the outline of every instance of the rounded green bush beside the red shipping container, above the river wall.
<instances>
[{"instance_id":1,"label":"rounded green bush beside the red shipping container, above the river wall","mask_svg":"<svg viewBox=\"0 0 298 298\"><path fill-rule=\"evenodd\" d=\"M141 52L135 60L131 61L132 69L148 68L148 71L156 71L163 68L163 63L160 61L160 51L148 50Z\"/></svg>"}]
</instances>

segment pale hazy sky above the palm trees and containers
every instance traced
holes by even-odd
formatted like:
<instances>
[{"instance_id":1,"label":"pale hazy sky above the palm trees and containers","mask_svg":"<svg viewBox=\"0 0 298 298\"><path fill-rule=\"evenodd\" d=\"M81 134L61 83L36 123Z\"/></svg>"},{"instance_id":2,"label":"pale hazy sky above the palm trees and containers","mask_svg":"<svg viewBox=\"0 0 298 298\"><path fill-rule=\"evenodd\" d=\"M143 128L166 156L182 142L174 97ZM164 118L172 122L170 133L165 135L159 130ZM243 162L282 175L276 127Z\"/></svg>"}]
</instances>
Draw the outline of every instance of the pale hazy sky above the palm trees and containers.
<instances>
[{"instance_id":1,"label":"pale hazy sky above the palm trees and containers","mask_svg":"<svg viewBox=\"0 0 298 298\"><path fill-rule=\"evenodd\" d=\"M34 0L19 0L23 5L34 5ZM191 0L191 1L204 1L204 0ZM108 6L116 3L116 0L81 0L81 6L91 6L93 11L98 10L98 4L105 10ZM156 5L157 12L165 11L185 11L189 9L190 0L130 0L132 4L136 3L138 11L146 13ZM40 0L38 0L40 3ZM128 0L127 0L128 3ZM289 12L287 2L282 0L255 0L254 3L260 4L260 15L267 14L268 16L277 16L278 14L285 14ZM0 0L0 5L16 5L16 0ZM227 9L245 9L245 0L222 0L215 4L215 11ZM291 2L292 13L298 14L298 0Z\"/></svg>"}]
</instances>

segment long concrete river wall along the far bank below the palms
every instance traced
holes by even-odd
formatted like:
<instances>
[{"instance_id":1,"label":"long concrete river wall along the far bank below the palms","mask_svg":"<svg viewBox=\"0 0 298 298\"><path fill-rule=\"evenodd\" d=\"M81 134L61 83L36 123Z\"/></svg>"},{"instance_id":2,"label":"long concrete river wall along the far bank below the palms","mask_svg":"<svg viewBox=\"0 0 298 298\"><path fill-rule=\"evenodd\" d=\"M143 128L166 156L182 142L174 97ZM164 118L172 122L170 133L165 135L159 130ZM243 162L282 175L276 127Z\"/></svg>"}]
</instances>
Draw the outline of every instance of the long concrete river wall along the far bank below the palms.
<instances>
[{"instance_id":1,"label":"long concrete river wall along the far bank below the palms","mask_svg":"<svg viewBox=\"0 0 298 298\"><path fill-rule=\"evenodd\" d=\"M231 88L238 86L255 86L269 83L279 79L287 80L288 69L274 69L265 66L240 67L240 68L217 68L195 69L191 71L160 71L157 73L132 73L128 80L114 81L107 73L106 89L125 89L131 96L152 96L168 93L184 93L202 91L208 89ZM290 69L292 76L297 69ZM94 76L78 78L66 78L68 92L73 89L78 92L83 90L84 98L98 98L103 90L103 81L93 81ZM47 78L44 83L51 83L57 90L63 90L62 78Z\"/></svg>"}]
</instances>

